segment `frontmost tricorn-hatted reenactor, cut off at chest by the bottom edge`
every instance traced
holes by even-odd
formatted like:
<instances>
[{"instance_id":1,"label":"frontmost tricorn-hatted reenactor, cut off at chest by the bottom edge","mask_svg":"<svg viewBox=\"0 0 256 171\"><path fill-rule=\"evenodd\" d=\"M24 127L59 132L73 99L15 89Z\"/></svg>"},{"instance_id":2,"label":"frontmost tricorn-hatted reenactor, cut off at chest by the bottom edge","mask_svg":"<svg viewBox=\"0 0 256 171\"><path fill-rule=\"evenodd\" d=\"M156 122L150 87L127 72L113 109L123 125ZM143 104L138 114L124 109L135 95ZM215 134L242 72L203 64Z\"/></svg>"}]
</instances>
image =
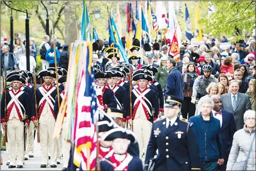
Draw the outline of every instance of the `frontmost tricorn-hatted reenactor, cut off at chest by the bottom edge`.
<instances>
[{"instance_id":1,"label":"frontmost tricorn-hatted reenactor, cut off at chest by the bottom edge","mask_svg":"<svg viewBox=\"0 0 256 171\"><path fill-rule=\"evenodd\" d=\"M102 141L113 141L114 153L101 161L102 170L143 170L138 156L127 153L130 143L136 143L136 137L131 130L114 128L102 136Z\"/></svg>"}]
</instances>

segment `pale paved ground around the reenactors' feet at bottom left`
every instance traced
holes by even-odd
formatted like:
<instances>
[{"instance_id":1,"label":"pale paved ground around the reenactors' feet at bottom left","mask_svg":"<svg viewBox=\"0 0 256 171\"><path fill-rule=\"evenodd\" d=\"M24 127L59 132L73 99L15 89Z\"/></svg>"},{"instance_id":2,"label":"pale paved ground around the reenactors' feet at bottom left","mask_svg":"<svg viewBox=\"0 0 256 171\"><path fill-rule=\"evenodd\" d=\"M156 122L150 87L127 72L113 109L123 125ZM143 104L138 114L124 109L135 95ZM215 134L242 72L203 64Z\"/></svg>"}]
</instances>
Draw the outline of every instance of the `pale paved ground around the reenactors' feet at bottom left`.
<instances>
[{"instance_id":1,"label":"pale paved ground around the reenactors' feet at bottom left","mask_svg":"<svg viewBox=\"0 0 256 171\"><path fill-rule=\"evenodd\" d=\"M33 158L28 158L27 161L25 161L25 165L23 168L18 169L18 168L13 168L9 169L8 166L6 165L6 152L1 152L1 156L3 157L3 165L1 165L0 170L62 170L63 168L63 158L61 157L60 159L60 165L57 165L57 168L50 168L49 163L46 168L40 168L40 143L38 143L38 140L36 139L35 136L35 141L34 141L34 157Z\"/></svg>"}]
</instances>

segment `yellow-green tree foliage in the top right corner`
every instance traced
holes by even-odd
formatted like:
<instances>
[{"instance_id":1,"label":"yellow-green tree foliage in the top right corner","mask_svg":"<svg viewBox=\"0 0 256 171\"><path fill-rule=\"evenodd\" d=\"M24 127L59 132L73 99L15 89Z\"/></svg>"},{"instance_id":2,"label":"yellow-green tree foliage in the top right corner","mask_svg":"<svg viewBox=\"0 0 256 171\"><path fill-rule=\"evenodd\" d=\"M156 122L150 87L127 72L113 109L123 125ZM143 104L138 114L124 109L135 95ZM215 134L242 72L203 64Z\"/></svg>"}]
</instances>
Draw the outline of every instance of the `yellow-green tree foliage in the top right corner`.
<instances>
[{"instance_id":1,"label":"yellow-green tree foliage in the top right corner","mask_svg":"<svg viewBox=\"0 0 256 171\"><path fill-rule=\"evenodd\" d=\"M203 17L199 23L204 23L211 35L237 35L236 40L244 38L248 32L255 29L255 1L210 1L214 4L215 13Z\"/></svg>"}]
</instances>

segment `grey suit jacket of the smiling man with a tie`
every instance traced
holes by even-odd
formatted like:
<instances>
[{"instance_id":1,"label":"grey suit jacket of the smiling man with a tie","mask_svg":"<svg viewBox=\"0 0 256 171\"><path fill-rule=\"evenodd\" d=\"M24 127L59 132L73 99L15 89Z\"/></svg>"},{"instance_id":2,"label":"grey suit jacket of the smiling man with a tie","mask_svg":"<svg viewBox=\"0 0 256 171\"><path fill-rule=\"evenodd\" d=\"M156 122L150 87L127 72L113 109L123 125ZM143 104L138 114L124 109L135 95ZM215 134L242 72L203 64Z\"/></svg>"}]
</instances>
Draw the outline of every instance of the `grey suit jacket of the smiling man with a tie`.
<instances>
[{"instance_id":1,"label":"grey suit jacket of the smiling man with a tie","mask_svg":"<svg viewBox=\"0 0 256 171\"><path fill-rule=\"evenodd\" d=\"M236 130L242 129L243 124L245 124L243 122L243 114L245 114L246 110L252 109L249 96L246 94L238 93L235 110L232 107L230 93L221 95L221 99L222 99L222 109L228 110L232 112L234 115Z\"/></svg>"}]
</instances>

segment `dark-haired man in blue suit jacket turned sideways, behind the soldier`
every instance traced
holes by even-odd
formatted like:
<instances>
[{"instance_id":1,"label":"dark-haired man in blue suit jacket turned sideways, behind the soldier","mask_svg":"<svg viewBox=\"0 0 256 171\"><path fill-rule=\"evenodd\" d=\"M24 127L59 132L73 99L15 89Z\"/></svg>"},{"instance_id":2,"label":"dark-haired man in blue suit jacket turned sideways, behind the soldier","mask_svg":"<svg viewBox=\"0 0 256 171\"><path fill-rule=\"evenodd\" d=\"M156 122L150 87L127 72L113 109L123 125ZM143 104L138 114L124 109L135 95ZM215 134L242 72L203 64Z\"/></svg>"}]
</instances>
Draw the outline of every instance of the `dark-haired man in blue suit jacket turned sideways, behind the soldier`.
<instances>
[{"instance_id":1,"label":"dark-haired man in blue suit jacket turned sideways, behind the soldier","mask_svg":"<svg viewBox=\"0 0 256 171\"><path fill-rule=\"evenodd\" d=\"M170 72L167 76L165 94L173 95L183 100L182 74L176 69L176 61L171 58L167 61L166 66Z\"/></svg>"}]
</instances>

